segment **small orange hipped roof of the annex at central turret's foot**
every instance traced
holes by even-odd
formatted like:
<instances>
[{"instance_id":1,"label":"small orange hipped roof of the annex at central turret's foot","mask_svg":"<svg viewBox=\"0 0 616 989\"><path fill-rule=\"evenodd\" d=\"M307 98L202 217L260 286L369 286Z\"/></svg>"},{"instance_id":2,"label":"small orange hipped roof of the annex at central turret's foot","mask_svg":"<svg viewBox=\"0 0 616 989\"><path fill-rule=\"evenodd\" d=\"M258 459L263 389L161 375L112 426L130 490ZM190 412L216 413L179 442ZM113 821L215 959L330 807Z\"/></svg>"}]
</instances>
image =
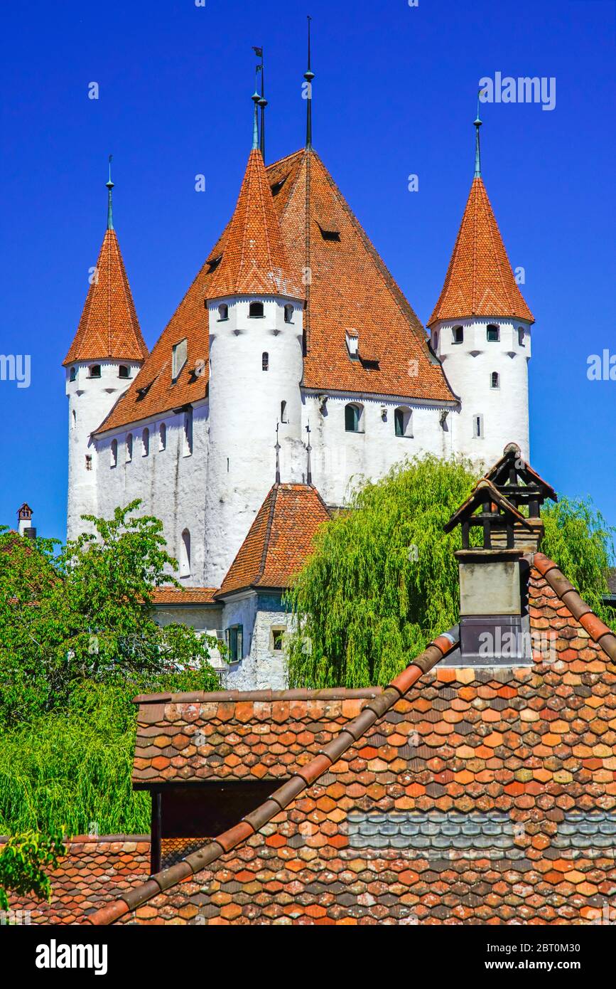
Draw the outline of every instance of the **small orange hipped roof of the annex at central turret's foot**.
<instances>
[{"instance_id":1,"label":"small orange hipped roof of the annex at central turret's foot","mask_svg":"<svg viewBox=\"0 0 616 989\"><path fill-rule=\"evenodd\" d=\"M273 485L216 597L244 587L287 587L329 517L312 485Z\"/></svg>"}]
</instances>

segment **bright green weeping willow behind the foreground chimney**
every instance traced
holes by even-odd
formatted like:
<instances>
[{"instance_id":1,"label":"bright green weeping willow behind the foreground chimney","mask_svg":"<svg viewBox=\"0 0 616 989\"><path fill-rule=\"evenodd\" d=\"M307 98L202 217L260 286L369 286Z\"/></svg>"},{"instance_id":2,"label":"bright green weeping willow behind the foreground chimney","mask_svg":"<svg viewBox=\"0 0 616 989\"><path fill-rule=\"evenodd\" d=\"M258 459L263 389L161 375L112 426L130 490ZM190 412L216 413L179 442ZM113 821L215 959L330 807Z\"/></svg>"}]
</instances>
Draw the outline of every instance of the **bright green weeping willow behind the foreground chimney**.
<instances>
[{"instance_id":1,"label":"bright green weeping willow behind the foreground chimney","mask_svg":"<svg viewBox=\"0 0 616 989\"><path fill-rule=\"evenodd\" d=\"M387 683L457 622L461 533L443 525L476 482L468 461L428 456L358 488L322 526L286 595L291 686ZM564 499L544 518L543 551L605 618L612 531L589 502Z\"/></svg>"}]
</instances>

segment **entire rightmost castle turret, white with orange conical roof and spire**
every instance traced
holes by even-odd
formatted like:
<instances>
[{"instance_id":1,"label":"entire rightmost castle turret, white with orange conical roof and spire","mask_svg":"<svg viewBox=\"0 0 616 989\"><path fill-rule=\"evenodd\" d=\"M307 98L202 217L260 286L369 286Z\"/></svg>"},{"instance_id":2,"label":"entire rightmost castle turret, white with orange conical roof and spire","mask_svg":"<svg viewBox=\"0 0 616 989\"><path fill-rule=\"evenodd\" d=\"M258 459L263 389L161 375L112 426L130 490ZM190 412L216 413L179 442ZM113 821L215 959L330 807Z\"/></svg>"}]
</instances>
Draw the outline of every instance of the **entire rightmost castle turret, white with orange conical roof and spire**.
<instances>
[{"instance_id":1,"label":"entire rightmost castle turret, white with orange conical roof and spire","mask_svg":"<svg viewBox=\"0 0 616 989\"><path fill-rule=\"evenodd\" d=\"M529 456L528 360L534 318L511 270L481 174L479 109L475 177L445 282L428 326L461 410L454 447L491 464L509 441Z\"/></svg>"}]
</instances>

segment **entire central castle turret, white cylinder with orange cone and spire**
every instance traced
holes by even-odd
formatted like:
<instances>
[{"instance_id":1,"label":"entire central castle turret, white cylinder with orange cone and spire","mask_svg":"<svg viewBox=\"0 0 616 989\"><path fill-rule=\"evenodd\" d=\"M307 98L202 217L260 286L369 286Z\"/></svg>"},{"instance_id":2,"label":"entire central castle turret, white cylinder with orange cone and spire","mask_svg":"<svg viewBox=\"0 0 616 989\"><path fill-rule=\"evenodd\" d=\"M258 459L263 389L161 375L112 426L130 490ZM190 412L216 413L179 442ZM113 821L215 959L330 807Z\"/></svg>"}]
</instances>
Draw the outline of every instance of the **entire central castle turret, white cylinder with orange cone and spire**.
<instances>
[{"instance_id":1,"label":"entire central castle turret, white cylinder with orange cone and spire","mask_svg":"<svg viewBox=\"0 0 616 989\"><path fill-rule=\"evenodd\" d=\"M255 99L256 97L256 99ZM207 294L209 461L206 582L218 586L271 484L279 422L285 478L301 480L302 312L299 274L282 242L255 94L253 149Z\"/></svg>"}]
</instances>

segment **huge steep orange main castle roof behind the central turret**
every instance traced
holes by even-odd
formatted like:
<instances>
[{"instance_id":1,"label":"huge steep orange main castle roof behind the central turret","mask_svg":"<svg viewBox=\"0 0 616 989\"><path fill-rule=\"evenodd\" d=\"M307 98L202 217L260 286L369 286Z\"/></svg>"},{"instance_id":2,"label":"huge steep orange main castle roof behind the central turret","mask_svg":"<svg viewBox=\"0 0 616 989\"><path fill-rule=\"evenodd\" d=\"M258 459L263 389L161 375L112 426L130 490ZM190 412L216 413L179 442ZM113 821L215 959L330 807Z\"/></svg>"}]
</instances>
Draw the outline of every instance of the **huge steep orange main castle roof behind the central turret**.
<instances>
[{"instance_id":1,"label":"huge steep orange main castle roof behind the central turret","mask_svg":"<svg viewBox=\"0 0 616 989\"><path fill-rule=\"evenodd\" d=\"M453 402L442 367L428 350L422 323L316 152L296 151L273 162L266 172L291 271L308 267L312 276L306 286L303 384L325 391ZM203 303L212 298L230 229L231 224L207 254L139 374L99 431L205 398L209 340ZM323 229L338 231L340 240L326 240ZM359 330L360 361L348 358L346 328ZM174 383L172 347L185 337L189 360ZM378 360L378 370L367 367L364 358ZM202 361L203 371L194 375L197 361Z\"/></svg>"}]
</instances>

